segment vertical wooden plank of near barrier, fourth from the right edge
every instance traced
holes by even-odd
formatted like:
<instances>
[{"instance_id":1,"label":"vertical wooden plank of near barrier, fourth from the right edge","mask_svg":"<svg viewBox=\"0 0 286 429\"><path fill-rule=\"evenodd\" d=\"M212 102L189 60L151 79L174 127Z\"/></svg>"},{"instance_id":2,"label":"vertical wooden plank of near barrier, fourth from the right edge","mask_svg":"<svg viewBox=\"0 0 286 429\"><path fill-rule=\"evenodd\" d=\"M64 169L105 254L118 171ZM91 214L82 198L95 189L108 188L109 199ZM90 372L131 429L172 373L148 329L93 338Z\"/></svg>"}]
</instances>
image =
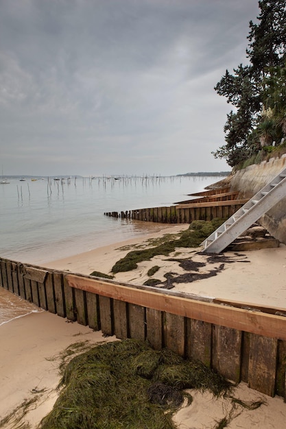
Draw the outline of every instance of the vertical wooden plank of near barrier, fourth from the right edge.
<instances>
[{"instance_id":1,"label":"vertical wooden plank of near barrier, fourth from the right edge","mask_svg":"<svg viewBox=\"0 0 286 429\"><path fill-rule=\"evenodd\" d=\"M211 356L211 323L187 319L187 357L200 360L207 367L211 367Z\"/></svg>"}]
</instances>

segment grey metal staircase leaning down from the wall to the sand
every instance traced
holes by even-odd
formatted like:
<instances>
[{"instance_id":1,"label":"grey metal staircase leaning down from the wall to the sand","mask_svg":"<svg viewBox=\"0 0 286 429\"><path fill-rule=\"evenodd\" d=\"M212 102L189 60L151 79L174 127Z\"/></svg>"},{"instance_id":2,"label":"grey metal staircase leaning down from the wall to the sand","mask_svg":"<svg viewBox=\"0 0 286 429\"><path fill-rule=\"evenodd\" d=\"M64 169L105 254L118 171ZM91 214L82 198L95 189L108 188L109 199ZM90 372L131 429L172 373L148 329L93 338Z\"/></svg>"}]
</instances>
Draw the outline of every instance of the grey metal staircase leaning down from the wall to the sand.
<instances>
[{"instance_id":1,"label":"grey metal staircase leaning down from the wall to the sand","mask_svg":"<svg viewBox=\"0 0 286 429\"><path fill-rule=\"evenodd\" d=\"M202 252L215 254L222 252L283 197L286 197L286 168L208 236L201 243L204 245Z\"/></svg>"}]
</instances>

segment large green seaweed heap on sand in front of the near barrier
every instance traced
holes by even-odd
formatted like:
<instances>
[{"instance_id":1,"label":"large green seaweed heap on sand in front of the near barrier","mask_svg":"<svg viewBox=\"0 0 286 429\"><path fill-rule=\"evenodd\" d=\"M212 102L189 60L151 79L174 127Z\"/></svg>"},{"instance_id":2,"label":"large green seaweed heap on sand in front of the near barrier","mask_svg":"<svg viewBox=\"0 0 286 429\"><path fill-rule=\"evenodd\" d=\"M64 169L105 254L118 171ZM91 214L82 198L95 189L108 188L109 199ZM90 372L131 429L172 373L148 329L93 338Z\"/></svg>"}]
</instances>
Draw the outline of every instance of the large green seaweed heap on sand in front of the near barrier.
<instances>
[{"instance_id":1,"label":"large green seaweed heap on sand in front of the near barrier","mask_svg":"<svg viewBox=\"0 0 286 429\"><path fill-rule=\"evenodd\" d=\"M171 416L186 395L182 389L208 389L219 396L232 385L201 363L128 339L73 358L60 387L40 429L174 429Z\"/></svg>"}]
</instances>

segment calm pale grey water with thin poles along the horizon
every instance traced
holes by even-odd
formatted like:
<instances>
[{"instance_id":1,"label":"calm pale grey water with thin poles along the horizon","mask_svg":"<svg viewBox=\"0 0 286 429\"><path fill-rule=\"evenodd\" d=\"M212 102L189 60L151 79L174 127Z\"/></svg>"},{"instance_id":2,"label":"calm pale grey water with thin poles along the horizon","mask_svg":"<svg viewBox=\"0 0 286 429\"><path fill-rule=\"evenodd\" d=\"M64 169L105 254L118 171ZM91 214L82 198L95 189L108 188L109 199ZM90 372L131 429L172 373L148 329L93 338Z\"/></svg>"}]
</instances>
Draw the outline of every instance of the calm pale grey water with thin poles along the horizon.
<instances>
[{"instance_id":1,"label":"calm pale grey water with thin poles along the horizon","mask_svg":"<svg viewBox=\"0 0 286 429\"><path fill-rule=\"evenodd\" d=\"M104 212L169 206L222 177L10 179L0 184L0 256L40 265L160 228Z\"/></svg>"}]
</instances>

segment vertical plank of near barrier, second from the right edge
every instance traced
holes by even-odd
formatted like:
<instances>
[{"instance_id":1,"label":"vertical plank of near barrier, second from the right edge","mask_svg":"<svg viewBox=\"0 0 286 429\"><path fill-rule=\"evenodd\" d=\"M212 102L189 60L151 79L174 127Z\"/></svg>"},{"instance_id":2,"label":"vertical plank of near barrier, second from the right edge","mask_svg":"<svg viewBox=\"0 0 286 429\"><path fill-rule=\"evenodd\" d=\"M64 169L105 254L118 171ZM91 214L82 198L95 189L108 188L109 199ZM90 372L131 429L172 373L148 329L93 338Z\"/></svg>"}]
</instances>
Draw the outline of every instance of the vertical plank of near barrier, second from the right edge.
<instances>
[{"instance_id":1,"label":"vertical plank of near barrier, second from the right edge","mask_svg":"<svg viewBox=\"0 0 286 429\"><path fill-rule=\"evenodd\" d=\"M250 336L248 385L251 389L274 396L276 358L276 339L256 334Z\"/></svg>"}]
</instances>

